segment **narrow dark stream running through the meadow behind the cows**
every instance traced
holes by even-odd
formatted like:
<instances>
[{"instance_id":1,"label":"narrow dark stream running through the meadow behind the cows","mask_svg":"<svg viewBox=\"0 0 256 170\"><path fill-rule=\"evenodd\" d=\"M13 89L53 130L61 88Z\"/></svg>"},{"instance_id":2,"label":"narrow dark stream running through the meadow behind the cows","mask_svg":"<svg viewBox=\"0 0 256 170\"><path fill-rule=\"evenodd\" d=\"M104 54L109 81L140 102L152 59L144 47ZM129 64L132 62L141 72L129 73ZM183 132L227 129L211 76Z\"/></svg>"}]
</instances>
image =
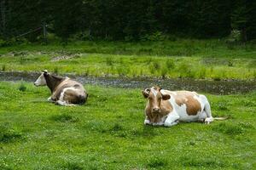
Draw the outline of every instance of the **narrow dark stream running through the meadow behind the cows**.
<instances>
[{"instance_id":1,"label":"narrow dark stream running through the meadow behind the cows","mask_svg":"<svg viewBox=\"0 0 256 170\"><path fill-rule=\"evenodd\" d=\"M25 81L34 82L40 73L32 72L3 72L0 71L0 81ZM195 79L156 79L156 78L126 78L126 77L81 77L73 75L63 75L71 77L85 86L102 85L116 88L150 88L154 85L169 90L191 90L205 92L209 94L245 94L256 90L256 81L239 80L195 80Z\"/></svg>"}]
</instances>

